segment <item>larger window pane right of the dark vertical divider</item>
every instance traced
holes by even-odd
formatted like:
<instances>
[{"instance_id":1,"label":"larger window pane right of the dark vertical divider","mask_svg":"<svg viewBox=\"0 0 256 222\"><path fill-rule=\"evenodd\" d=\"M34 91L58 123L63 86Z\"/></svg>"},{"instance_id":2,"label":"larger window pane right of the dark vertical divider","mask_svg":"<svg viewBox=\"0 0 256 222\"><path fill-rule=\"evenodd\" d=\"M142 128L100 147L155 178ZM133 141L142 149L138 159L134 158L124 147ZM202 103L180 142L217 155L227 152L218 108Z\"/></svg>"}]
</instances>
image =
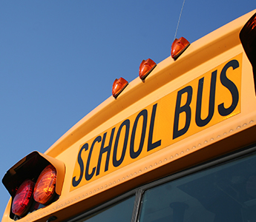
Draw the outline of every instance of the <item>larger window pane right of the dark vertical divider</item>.
<instances>
[{"instance_id":1,"label":"larger window pane right of the dark vertical divider","mask_svg":"<svg viewBox=\"0 0 256 222\"><path fill-rule=\"evenodd\" d=\"M139 221L256 221L256 155L148 189Z\"/></svg>"}]
</instances>

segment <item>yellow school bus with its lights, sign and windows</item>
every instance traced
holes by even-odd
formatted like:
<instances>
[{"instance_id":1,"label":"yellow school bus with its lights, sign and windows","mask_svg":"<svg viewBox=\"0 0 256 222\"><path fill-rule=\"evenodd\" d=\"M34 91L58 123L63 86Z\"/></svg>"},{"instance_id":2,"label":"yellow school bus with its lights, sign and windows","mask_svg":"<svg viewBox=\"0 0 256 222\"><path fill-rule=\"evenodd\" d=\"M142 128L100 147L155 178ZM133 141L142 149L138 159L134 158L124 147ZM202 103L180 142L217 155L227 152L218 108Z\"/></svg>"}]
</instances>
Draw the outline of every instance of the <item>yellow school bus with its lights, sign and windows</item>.
<instances>
[{"instance_id":1,"label":"yellow school bus with its lights, sign and windows","mask_svg":"<svg viewBox=\"0 0 256 222\"><path fill-rule=\"evenodd\" d=\"M256 221L256 10L140 64L2 182L2 221Z\"/></svg>"}]
</instances>

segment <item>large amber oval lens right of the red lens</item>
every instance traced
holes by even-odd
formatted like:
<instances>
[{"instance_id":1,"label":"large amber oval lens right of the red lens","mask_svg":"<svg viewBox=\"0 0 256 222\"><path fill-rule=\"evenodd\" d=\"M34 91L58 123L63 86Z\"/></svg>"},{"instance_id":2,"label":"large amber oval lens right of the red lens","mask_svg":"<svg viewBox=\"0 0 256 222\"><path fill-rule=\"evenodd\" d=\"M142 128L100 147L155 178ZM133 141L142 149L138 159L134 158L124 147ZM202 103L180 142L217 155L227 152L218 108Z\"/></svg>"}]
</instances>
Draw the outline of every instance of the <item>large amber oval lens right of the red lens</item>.
<instances>
[{"instance_id":1,"label":"large amber oval lens right of the red lens","mask_svg":"<svg viewBox=\"0 0 256 222\"><path fill-rule=\"evenodd\" d=\"M39 175L34 189L34 200L45 204L55 195L56 169L48 165Z\"/></svg>"}]
</instances>

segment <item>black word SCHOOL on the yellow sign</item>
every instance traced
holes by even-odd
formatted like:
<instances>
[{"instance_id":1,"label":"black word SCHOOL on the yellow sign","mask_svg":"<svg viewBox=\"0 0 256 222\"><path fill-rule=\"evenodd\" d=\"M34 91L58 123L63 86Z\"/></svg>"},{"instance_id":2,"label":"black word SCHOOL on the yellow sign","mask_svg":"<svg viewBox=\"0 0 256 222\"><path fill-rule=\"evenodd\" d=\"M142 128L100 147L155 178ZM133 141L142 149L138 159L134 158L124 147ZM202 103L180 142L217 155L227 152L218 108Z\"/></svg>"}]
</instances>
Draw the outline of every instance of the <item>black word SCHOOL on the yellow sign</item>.
<instances>
[{"instance_id":1,"label":"black word SCHOOL on the yellow sign","mask_svg":"<svg viewBox=\"0 0 256 222\"><path fill-rule=\"evenodd\" d=\"M153 142L153 133L154 133L154 121L155 121L155 116L156 116L156 112L157 112L157 104L154 104L153 108L152 108L152 112L151 112L151 118L150 118L150 124L149 124L149 130L148 130L148 147L147 147L147 151L150 151L151 149L155 149L157 147L160 147L161 145L161 140L158 141L154 141ZM140 145L138 149L134 148L134 138L137 132L137 124L138 121L140 120L140 118L142 118L142 129L141 129L141 134L140 134ZM82 176L84 175L85 172L85 180L86 181L90 181L91 178L93 178L93 176L95 175L99 175L100 174L100 168L102 164L105 164L105 172L108 171L109 168L109 164L110 164L110 157L111 157L111 152L113 152L113 158L111 161L111 164L114 167L120 166L122 164L122 162L124 161L125 157L127 157L127 155L125 155L125 153L127 152L127 150L130 153L130 158L134 159L137 158L140 153L142 152L142 149L144 147L144 143L145 143L145 133L146 133L146 128L147 128L147 120L148 120L148 110L142 110L136 117L134 124L132 126L132 130L131 130L131 138L130 138L130 146L129 149L127 149L128 147L128 138L130 136L130 125L131 125L131 121L129 119L125 119L125 121L122 122L122 124L119 126L119 129L117 129L117 133L116 135L114 135L114 132L116 130L116 128L114 127L113 129L111 129L111 136L110 136L110 140L108 142L108 145L105 146L105 138L107 136L107 132L104 133L103 136L98 135L92 142L90 150L89 149L89 144L85 143L82 145L81 149L79 150L79 154L77 156L77 162L79 164L79 168L80 168L80 175L79 178L77 179L76 176L73 177L73 181L72 181L72 185L73 186L78 186L79 183L82 181ZM120 141L120 135L121 132L125 132L125 137L122 138L122 141ZM94 151L93 148L95 146L96 143L100 144L100 149ZM114 144L114 147L112 146L112 144ZM119 147L122 147L122 155L120 158L117 158L117 152ZM111 149L113 148L113 151L111 151ZM137 150L137 151L135 151ZM87 160L83 160L82 159L82 152L89 152L88 153L88 158ZM96 166L91 166L91 156L93 152L99 152L98 156L98 162L96 164ZM102 163L102 155L104 153L107 153L107 158L105 159L105 163ZM85 165L86 163L86 165ZM91 169L91 167L93 167ZM89 169L91 169L91 172L89 172Z\"/></svg>"}]
</instances>

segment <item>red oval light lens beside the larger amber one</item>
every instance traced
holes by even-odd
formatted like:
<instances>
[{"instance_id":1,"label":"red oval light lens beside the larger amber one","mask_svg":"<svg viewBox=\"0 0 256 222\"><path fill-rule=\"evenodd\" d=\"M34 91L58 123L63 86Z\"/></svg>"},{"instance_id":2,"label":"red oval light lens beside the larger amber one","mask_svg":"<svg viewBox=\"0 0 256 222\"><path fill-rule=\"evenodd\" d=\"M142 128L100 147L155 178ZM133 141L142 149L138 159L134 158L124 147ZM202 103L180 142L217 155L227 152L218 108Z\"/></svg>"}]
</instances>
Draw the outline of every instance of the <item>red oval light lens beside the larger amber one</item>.
<instances>
[{"instance_id":1,"label":"red oval light lens beside the larger amber one","mask_svg":"<svg viewBox=\"0 0 256 222\"><path fill-rule=\"evenodd\" d=\"M13 198L12 212L15 215L22 216L30 207L30 203L33 200L33 189L35 183L27 180L19 186L15 197Z\"/></svg>"}]
</instances>

